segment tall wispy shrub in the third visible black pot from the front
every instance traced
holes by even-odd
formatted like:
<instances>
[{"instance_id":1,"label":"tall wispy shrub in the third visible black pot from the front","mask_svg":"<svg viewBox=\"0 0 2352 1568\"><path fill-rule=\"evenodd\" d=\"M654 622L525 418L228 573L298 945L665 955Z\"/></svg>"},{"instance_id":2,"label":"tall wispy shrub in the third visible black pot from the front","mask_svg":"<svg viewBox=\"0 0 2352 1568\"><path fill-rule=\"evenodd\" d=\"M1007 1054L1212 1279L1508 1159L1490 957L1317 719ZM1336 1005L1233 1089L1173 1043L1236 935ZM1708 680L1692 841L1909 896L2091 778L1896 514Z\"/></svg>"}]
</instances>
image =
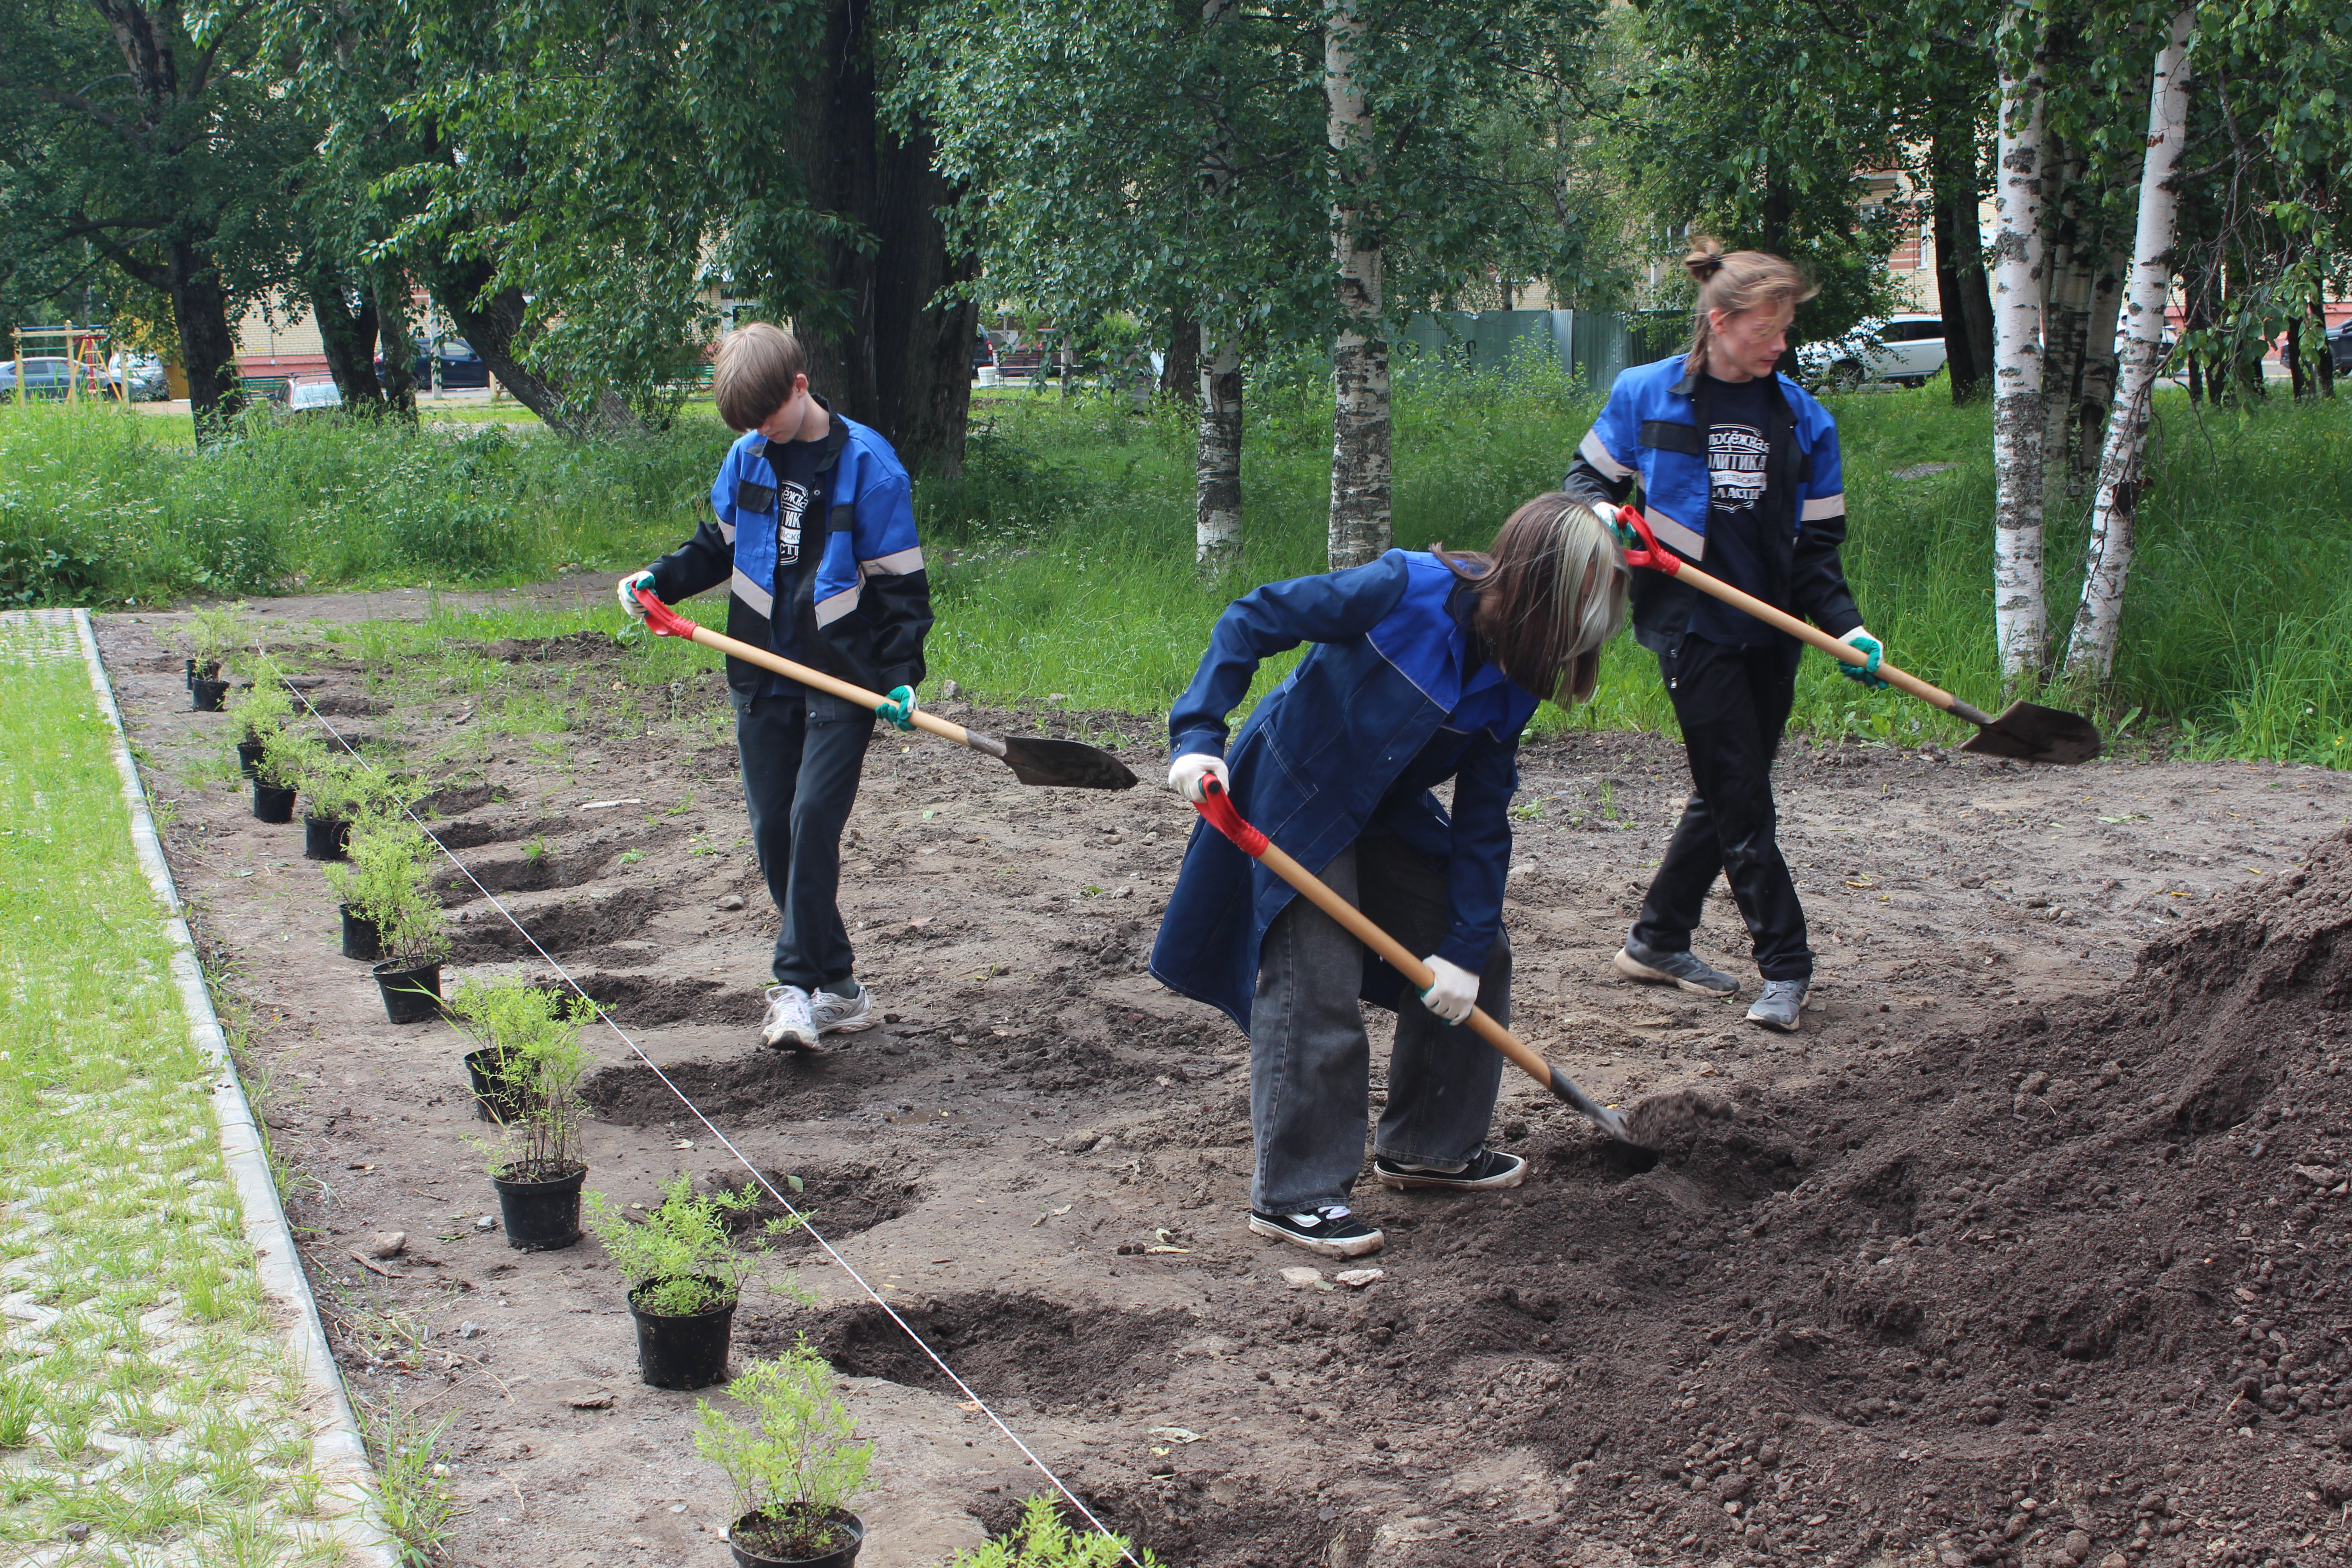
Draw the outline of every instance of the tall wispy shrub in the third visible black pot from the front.
<instances>
[{"instance_id":1,"label":"tall wispy shrub in the third visible black pot from the front","mask_svg":"<svg viewBox=\"0 0 2352 1568\"><path fill-rule=\"evenodd\" d=\"M452 1016L480 1041L468 1065L487 1058L506 1133L492 1159L506 1244L527 1253L557 1251L581 1239L581 1074L588 1051L581 1025L595 1018L586 997L562 999L522 980L466 983L449 1001Z\"/></svg>"}]
</instances>

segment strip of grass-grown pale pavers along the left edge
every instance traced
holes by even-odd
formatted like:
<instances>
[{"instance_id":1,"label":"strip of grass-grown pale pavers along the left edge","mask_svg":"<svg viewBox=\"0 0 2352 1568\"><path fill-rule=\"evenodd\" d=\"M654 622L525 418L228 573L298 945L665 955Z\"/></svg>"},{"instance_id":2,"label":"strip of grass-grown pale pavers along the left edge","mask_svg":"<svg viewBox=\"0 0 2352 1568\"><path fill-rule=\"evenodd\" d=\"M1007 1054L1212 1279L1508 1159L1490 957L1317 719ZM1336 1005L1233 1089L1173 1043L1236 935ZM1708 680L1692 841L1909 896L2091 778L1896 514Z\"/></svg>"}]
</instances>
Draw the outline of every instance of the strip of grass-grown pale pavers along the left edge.
<instances>
[{"instance_id":1,"label":"strip of grass-grown pale pavers along the left edge","mask_svg":"<svg viewBox=\"0 0 2352 1568\"><path fill-rule=\"evenodd\" d=\"M0 1542L341 1561L71 628L0 625Z\"/></svg>"}]
</instances>

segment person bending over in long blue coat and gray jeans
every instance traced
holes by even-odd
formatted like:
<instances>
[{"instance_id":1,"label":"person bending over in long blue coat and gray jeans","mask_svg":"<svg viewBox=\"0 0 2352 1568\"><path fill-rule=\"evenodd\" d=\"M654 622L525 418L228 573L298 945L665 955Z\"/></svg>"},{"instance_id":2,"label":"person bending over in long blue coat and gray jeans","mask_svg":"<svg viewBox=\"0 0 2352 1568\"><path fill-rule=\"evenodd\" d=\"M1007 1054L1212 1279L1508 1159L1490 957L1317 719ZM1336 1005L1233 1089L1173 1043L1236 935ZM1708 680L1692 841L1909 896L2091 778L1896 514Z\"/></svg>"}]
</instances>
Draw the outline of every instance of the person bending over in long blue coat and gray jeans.
<instances>
[{"instance_id":1,"label":"person bending over in long blue coat and gray jeans","mask_svg":"<svg viewBox=\"0 0 2352 1568\"><path fill-rule=\"evenodd\" d=\"M1324 1258L1381 1248L1348 1194L1364 1164L1371 1046L1362 1001L1397 1011L1374 1175L1388 1187L1515 1187L1486 1147L1503 1058L1456 1027L1510 1020L1510 795L1536 703L1592 696L1625 621L1625 559L1569 496L1529 501L1486 555L1390 550L1235 599L1169 712L1169 788L1209 783L1341 898L1430 954L1418 999L1331 914L1197 827L1152 976L1249 1032L1256 1175L1249 1229ZM1317 644L1225 757L1225 715L1258 663ZM1430 790L1454 780L1451 816Z\"/></svg>"}]
</instances>

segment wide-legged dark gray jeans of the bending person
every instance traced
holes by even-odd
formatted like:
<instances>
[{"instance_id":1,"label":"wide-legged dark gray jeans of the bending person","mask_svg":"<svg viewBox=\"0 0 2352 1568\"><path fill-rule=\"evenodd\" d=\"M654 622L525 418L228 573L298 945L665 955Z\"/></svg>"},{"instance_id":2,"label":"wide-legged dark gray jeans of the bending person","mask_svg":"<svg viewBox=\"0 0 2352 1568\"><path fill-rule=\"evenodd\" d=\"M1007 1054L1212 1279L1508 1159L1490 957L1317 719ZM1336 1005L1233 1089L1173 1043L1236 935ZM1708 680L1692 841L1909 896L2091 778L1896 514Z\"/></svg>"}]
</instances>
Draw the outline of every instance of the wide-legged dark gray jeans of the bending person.
<instances>
[{"instance_id":1,"label":"wide-legged dark gray jeans of the bending person","mask_svg":"<svg viewBox=\"0 0 2352 1568\"><path fill-rule=\"evenodd\" d=\"M1446 936L1444 875L1392 837L1350 844L1322 879L1416 957L1437 952ZM1305 898L1265 933L1249 1004L1249 1124L1258 1140L1249 1206L1258 1213L1345 1204L1364 1168L1371 1041L1357 1001L1362 976L1364 945ZM1510 1023L1508 933L1486 952L1477 1001ZM1406 997L1371 1147L1414 1166L1458 1166L1484 1145L1501 1084L1501 1051Z\"/></svg>"}]
</instances>

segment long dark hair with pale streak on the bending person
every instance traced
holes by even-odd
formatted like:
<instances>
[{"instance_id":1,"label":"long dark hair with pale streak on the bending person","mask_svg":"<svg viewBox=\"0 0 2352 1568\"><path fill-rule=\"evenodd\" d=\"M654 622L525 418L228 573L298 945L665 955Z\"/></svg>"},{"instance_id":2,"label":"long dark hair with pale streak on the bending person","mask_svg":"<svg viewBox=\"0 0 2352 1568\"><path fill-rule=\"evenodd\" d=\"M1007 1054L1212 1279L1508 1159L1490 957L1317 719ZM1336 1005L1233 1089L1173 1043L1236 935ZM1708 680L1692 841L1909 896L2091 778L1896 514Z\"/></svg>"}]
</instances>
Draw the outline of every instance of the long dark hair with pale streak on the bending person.
<instances>
[{"instance_id":1,"label":"long dark hair with pale streak on the bending person","mask_svg":"<svg viewBox=\"0 0 2352 1568\"><path fill-rule=\"evenodd\" d=\"M1632 578L1599 512L1550 491L1512 512L1491 550L1430 555L1477 585L1472 625L1503 675L1562 708L1592 696Z\"/></svg>"}]
</instances>

